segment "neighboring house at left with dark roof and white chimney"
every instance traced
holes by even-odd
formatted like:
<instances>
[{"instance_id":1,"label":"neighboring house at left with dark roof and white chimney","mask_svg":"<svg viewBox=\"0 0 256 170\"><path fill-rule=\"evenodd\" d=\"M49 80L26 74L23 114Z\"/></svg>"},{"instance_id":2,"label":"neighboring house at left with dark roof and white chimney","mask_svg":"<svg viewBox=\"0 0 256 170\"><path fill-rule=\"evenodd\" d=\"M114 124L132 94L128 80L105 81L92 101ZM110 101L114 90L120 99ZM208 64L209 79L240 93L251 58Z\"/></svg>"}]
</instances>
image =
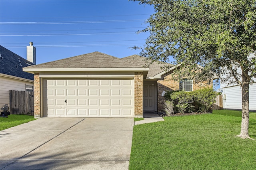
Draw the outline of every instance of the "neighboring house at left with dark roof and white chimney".
<instances>
[{"instance_id":1,"label":"neighboring house at left with dark roof and white chimney","mask_svg":"<svg viewBox=\"0 0 256 170\"><path fill-rule=\"evenodd\" d=\"M35 47L30 44L27 51L30 61L0 45L0 108L4 105L10 106L10 90L33 91L34 89L34 75L22 71L22 68L35 64Z\"/></svg>"}]
</instances>

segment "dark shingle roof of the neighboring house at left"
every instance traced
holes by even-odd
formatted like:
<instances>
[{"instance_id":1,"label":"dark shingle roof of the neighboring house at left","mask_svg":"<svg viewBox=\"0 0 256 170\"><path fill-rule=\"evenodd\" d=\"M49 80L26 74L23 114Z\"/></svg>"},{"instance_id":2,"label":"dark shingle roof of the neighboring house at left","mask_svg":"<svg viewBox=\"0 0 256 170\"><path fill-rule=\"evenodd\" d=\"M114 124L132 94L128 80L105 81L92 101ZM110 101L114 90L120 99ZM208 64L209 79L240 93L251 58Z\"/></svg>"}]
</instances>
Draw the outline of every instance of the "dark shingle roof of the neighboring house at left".
<instances>
[{"instance_id":1,"label":"dark shingle roof of the neighboring house at left","mask_svg":"<svg viewBox=\"0 0 256 170\"><path fill-rule=\"evenodd\" d=\"M30 65L33 63L0 45L0 73L34 80L33 74L22 71Z\"/></svg>"}]
</instances>

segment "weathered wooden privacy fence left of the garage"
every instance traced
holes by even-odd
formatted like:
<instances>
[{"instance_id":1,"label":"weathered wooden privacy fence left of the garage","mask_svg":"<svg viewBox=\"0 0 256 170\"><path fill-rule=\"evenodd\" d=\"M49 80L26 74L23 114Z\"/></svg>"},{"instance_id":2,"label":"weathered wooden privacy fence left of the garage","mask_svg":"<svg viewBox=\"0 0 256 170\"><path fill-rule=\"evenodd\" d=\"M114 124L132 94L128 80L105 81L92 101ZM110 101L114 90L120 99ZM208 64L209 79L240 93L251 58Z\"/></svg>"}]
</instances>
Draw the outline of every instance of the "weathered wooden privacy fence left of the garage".
<instances>
[{"instance_id":1,"label":"weathered wooden privacy fence left of the garage","mask_svg":"<svg viewBox=\"0 0 256 170\"><path fill-rule=\"evenodd\" d=\"M34 115L34 91L10 90L10 114Z\"/></svg>"}]
</instances>

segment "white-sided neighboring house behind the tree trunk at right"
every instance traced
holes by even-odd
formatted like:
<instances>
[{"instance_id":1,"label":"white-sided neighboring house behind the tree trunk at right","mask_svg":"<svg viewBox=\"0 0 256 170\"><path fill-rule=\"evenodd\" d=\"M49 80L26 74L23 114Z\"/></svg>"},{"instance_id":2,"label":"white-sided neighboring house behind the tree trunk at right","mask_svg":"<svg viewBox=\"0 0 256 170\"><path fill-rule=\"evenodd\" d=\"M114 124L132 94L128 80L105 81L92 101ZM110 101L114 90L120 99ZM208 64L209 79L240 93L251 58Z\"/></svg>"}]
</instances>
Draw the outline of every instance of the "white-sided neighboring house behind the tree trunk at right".
<instances>
[{"instance_id":1,"label":"white-sided neighboring house behind the tree trunk at right","mask_svg":"<svg viewBox=\"0 0 256 170\"><path fill-rule=\"evenodd\" d=\"M249 57L255 57L255 53L252 53ZM238 72L240 71L238 70ZM250 111L256 111L256 78L253 78L253 82L249 86ZM223 108L242 110L242 87L236 84L220 83L220 88L223 95Z\"/></svg>"}]
</instances>

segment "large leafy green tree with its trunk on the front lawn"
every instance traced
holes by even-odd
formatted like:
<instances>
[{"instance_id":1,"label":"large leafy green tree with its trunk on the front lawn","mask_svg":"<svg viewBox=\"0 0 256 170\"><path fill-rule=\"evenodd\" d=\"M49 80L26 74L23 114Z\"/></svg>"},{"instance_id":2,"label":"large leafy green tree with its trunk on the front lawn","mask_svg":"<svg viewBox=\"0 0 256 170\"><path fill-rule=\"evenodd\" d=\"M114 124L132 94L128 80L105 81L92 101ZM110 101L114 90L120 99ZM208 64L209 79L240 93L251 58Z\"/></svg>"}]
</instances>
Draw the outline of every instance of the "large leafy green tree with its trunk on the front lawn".
<instances>
[{"instance_id":1,"label":"large leafy green tree with its trunk on the front lawn","mask_svg":"<svg viewBox=\"0 0 256 170\"><path fill-rule=\"evenodd\" d=\"M182 67L180 77L206 80L218 75L222 82L241 85L238 136L250 138L249 84L256 77L256 0L133 1L155 9L146 20L148 27L139 31L150 32L140 54L157 62L173 58L174 64Z\"/></svg>"}]
</instances>

